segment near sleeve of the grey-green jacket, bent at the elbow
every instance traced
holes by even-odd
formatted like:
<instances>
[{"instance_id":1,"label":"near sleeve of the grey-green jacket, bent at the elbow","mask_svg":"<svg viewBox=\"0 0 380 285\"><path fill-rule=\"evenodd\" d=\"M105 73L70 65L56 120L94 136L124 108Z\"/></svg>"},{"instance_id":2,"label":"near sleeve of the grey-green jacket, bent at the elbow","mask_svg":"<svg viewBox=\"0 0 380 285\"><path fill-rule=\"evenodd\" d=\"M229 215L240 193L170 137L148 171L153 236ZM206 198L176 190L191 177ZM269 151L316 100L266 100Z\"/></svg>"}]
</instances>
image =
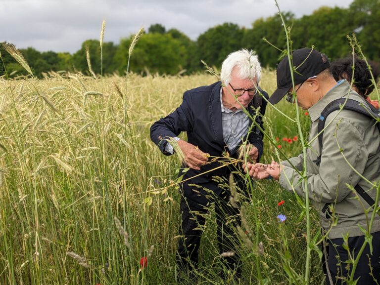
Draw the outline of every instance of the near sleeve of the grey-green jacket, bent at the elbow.
<instances>
[{"instance_id":1,"label":"near sleeve of the grey-green jacket, bent at the elbow","mask_svg":"<svg viewBox=\"0 0 380 285\"><path fill-rule=\"evenodd\" d=\"M361 179L352 167L358 173L363 173L367 163L364 130L357 129L347 121L334 121L336 123L332 122L323 134L324 144L318 174L306 173L309 199L318 203L341 202L351 192L347 184L355 186ZM298 195L305 197L305 183L301 183L301 177L293 168L284 165L279 182L289 191L292 191L293 186Z\"/></svg>"}]
</instances>

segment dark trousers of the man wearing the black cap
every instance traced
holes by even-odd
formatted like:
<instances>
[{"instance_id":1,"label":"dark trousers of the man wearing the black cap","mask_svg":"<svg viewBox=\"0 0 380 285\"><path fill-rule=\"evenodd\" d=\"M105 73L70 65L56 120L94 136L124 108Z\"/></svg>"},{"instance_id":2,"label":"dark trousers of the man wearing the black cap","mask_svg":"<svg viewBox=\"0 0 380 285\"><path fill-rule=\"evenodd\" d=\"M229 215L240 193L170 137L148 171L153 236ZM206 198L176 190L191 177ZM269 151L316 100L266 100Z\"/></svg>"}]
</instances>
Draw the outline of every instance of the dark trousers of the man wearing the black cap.
<instances>
[{"instance_id":1,"label":"dark trousers of the man wearing the black cap","mask_svg":"<svg viewBox=\"0 0 380 285\"><path fill-rule=\"evenodd\" d=\"M380 232L372 234L373 252L370 253L370 246L367 244L360 256L359 263L354 273L354 280L359 278L357 285L376 285L374 278L370 275L371 262L372 275L380 284ZM364 243L364 236L348 238L348 248L351 256L356 258L360 248ZM352 264L349 260L348 252L343 248L343 239L331 239L327 246L328 265L332 276L332 284L326 276L327 285L346 285L347 282L342 278L348 278L351 274ZM325 265L324 265L325 266Z\"/></svg>"}]
</instances>

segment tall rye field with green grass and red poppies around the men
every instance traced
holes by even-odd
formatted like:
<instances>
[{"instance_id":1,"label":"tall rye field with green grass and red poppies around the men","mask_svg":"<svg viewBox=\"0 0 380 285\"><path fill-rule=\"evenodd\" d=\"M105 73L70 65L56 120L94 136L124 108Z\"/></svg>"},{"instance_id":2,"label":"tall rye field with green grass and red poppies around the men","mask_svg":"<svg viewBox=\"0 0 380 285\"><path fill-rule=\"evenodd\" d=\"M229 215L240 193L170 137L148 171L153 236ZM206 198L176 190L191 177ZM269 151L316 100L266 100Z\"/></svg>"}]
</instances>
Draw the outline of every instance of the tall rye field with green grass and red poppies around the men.
<instances>
[{"instance_id":1,"label":"tall rye field with green grass and red poppies around the men","mask_svg":"<svg viewBox=\"0 0 380 285\"><path fill-rule=\"evenodd\" d=\"M175 110L184 91L214 81L206 73L0 79L0 284L178 284L180 161L160 153L149 127ZM271 94L274 71L264 70L260 85ZM295 117L287 102L279 109ZM306 135L309 118L299 112ZM276 144L265 139L263 162L278 161L280 148L288 157L302 151L297 124L270 106L265 127ZM249 235L238 244L241 280L219 277L211 206L197 279L185 284L304 284L302 204L275 181L256 182L243 204ZM318 214L307 215L318 236ZM310 284L323 284L316 250L307 266Z\"/></svg>"}]
</instances>

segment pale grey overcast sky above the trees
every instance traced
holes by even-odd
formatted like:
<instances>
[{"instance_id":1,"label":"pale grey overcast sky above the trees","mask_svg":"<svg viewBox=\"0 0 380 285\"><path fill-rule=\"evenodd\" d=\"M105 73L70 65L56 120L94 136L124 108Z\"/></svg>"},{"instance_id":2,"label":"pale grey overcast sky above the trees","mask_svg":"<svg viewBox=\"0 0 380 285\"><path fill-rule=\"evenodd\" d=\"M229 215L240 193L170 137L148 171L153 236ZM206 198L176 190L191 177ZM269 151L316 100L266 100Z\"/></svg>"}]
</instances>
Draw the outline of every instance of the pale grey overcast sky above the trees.
<instances>
[{"instance_id":1,"label":"pale grey overcast sky above the trees","mask_svg":"<svg viewBox=\"0 0 380 285\"><path fill-rule=\"evenodd\" d=\"M292 11L296 17L323 5L347 8L351 2L278 0L282 11ZM99 39L103 20L104 41L118 44L121 38L155 23L196 40L218 24L250 28L255 19L276 13L274 0L0 0L0 42L73 53L83 41Z\"/></svg>"}]
</instances>

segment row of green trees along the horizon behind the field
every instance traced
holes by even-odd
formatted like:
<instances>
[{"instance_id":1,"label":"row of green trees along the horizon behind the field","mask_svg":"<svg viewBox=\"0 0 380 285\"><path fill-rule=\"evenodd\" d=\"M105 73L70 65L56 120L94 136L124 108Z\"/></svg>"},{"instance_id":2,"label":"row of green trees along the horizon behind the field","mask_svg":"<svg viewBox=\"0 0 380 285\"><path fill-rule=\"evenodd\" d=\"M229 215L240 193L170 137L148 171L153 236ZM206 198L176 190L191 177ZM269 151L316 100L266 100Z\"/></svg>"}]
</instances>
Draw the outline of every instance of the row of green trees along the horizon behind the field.
<instances>
[{"instance_id":1,"label":"row of green trees along the horizon behind the field","mask_svg":"<svg viewBox=\"0 0 380 285\"><path fill-rule=\"evenodd\" d=\"M314 45L330 59L345 57L351 52L346 36L355 33L366 57L380 61L380 0L354 0L348 8L321 7L301 18L285 12L283 17L286 26L291 27L294 49ZM74 54L40 52L33 47L20 51L38 77L48 71L89 74L86 48L96 74L123 75L128 65L132 38L123 38L119 44L103 42L102 71L98 40L84 41ZM167 31L161 24L151 25L133 50L130 70L140 74L191 74L204 69L201 60L219 69L223 59L240 48L255 50L262 66L275 68L281 56L280 50L286 48L280 16L259 18L251 28L239 27L234 23L217 25L201 34L196 41L177 29ZM26 74L2 47L0 56L0 76L11 78Z\"/></svg>"}]
</instances>

